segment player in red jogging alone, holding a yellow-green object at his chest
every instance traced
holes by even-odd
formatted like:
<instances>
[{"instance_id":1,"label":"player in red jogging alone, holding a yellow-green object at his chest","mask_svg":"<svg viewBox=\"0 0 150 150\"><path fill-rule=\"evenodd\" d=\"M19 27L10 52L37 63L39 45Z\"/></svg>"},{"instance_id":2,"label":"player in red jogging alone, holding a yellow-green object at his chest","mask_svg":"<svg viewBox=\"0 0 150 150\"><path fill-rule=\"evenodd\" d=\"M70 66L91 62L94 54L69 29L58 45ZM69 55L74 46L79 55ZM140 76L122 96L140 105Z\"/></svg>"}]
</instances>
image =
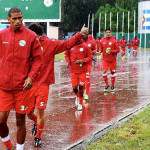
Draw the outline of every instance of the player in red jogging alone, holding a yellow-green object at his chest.
<instances>
[{"instance_id":1,"label":"player in red jogging alone, holding a yellow-green object at his chest","mask_svg":"<svg viewBox=\"0 0 150 150\"><path fill-rule=\"evenodd\" d=\"M105 37L100 44L100 51L103 53L103 79L105 81L104 91L108 91L109 83L107 78L107 70L111 72L111 92L114 92L115 72L116 72L116 56L120 52L117 41L111 37L111 30L105 30Z\"/></svg>"}]
</instances>

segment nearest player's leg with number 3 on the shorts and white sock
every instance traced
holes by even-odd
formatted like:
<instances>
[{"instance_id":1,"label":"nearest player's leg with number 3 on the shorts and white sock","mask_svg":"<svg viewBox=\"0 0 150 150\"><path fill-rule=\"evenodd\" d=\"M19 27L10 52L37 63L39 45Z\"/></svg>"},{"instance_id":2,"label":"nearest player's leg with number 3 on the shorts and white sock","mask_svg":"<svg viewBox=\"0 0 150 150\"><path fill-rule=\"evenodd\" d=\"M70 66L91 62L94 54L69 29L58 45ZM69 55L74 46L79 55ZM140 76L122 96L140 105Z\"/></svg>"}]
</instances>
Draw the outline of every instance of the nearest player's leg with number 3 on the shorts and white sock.
<instances>
[{"instance_id":1,"label":"nearest player's leg with number 3 on the shorts and white sock","mask_svg":"<svg viewBox=\"0 0 150 150\"><path fill-rule=\"evenodd\" d=\"M17 150L24 149L26 137L26 114L34 107L34 94L31 90L14 92L16 125L17 125Z\"/></svg>"}]
</instances>

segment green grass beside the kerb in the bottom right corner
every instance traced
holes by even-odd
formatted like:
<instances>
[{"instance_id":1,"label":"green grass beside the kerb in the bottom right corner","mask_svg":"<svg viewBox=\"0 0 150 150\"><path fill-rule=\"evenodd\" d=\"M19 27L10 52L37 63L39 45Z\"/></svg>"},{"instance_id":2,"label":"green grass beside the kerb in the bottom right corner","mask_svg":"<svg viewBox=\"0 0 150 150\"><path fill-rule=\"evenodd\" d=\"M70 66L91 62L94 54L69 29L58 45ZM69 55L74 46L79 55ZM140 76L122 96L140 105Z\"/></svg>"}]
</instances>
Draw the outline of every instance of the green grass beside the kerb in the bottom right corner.
<instances>
[{"instance_id":1,"label":"green grass beside the kerb in the bottom right corner","mask_svg":"<svg viewBox=\"0 0 150 150\"><path fill-rule=\"evenodd\" d=\"M150 107L86 150L150 150Z\"/></svg>"}]
</instances>

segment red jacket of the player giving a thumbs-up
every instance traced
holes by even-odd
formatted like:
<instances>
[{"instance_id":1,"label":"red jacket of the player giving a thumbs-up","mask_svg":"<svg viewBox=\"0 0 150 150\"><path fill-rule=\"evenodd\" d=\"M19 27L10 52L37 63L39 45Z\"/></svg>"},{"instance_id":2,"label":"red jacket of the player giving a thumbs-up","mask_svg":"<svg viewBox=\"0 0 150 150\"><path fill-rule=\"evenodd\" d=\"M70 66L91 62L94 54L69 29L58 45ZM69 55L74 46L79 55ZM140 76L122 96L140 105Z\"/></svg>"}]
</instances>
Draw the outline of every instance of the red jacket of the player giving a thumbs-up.
<instances>
[{"instance_id":1,"label":"red jacket of the player giving a thumbs-up","mask_svg":"<svg viewBox=\"0 0 150 150\"><path fill-rule=\"evenodd\" d=\"M80 33L70 38L67 41L52 41L50 39L40 38L40 43L43 51L44 64L34 86L49 85L55 83L54 75L54 58L66 49L73 47L82 38Z\"/></svg>"}]
</instances>

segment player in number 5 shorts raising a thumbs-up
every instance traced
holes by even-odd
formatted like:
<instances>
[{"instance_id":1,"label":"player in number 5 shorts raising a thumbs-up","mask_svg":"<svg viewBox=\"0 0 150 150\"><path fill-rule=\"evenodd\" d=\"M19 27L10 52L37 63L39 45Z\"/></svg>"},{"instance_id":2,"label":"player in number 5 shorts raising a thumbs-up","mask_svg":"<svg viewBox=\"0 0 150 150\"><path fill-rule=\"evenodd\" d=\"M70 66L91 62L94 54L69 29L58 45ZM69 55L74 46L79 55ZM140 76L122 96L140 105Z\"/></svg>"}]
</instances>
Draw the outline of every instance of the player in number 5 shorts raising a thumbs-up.
<instances>
[{"instance_id":1,"label":"player in number 5 shorts raising a thumbs-up","mask_svg":"<svg viewBox=\"0 0 150 150\"><path fill-rule=\"evenodd\" d=\"M42 144L41 136L45 124L45 114L49 85L55 83L54 77L54 58L56 54L59 54L66 49L73 47L77 41L79 41L82 36L88 32L87 28L83 26L80 33L70 38L67 41L52 41L45 38L43 35L43 27L37 23L32 23L29 25L29 29L34 31L41 43L41 50L44 58L44 64L41 69L40 75L37 77L33 84L32 91L35 93L35 108L37 109L37 114L33 110L28 114L28 117L34 121L32 133L34 137L34 146L39 147Z\"/></svg>"}]
</instances>

